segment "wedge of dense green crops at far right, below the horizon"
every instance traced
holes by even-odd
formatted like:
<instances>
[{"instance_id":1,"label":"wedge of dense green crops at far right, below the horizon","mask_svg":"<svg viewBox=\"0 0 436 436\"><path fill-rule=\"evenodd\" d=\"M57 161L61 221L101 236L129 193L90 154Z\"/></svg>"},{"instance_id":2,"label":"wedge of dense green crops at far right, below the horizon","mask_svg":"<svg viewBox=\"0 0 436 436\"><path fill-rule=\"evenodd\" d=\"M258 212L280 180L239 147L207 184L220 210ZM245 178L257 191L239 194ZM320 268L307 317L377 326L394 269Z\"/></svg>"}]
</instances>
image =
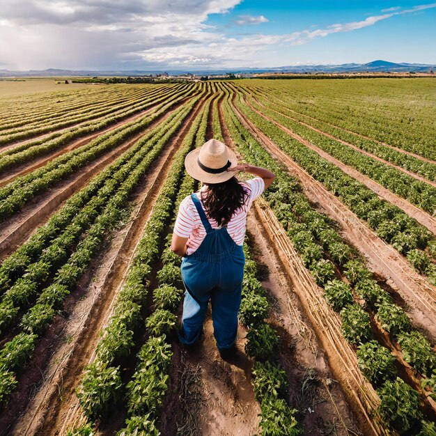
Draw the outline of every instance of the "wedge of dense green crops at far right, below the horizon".
<instances>
[{"instance_id":1,"label":"wedge of dense green crops at far right, below the horizon","mask_svg":"<svg viewBox=\"0 0 436 436\"><path fill-rule=\"evenodd\" d=\"M321 81L320 81L321 82ZM290 109L423 157L436 159L431 79L262 83ZM256 82L250 81L250 86ZM259 82L257 82L259 84ZM419 96L419 97L418 97Z\"/></svg>"}]
</instances>

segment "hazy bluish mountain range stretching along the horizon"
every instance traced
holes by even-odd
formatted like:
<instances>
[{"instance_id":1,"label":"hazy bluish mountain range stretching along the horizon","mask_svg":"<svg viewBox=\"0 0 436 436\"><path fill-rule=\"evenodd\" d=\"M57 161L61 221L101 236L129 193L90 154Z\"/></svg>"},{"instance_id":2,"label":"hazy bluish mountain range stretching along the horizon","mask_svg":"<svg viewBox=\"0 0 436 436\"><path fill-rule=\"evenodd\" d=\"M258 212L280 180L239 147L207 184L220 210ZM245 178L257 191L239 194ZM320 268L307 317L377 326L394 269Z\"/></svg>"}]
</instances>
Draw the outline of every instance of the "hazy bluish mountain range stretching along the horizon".
<instances>
[{"instance_id":1,"label":"hazy bluish mountain range stretching along the horizon","mask_svg":"<svg viewBox=\"0 0 436 436\"><path fill-rule=\"evenodd\" d=\"M429 72L436 70L436 65L424 63L394 63L388 61L372 61L368 63L342 63L341 65L286 65L277 68L226 68L225 70L113 70L113 71L90 71L90 70L48 70L10 71L0 70L0 77L95 77L95 76L146 76L150 74L170 75L186 74L188 71L196 75L220 75L226 72L260 73L260 72Z\"/></svg>"}]
</instances>

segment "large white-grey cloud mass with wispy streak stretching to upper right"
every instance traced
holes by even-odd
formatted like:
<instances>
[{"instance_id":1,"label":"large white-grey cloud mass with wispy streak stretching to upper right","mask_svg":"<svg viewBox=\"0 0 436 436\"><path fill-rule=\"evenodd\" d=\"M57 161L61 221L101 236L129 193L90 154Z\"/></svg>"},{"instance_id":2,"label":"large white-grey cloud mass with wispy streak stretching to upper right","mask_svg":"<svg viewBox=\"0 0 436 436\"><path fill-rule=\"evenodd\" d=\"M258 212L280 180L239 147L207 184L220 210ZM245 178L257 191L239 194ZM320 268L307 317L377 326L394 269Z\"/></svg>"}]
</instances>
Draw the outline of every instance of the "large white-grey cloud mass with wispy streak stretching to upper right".
<instances>
[{"instance_id":1,"label":"large white-grey cloud mass with wispy streak stretching to upper right","mask_svg":"<svg viewBox=\"0 0 436 436\"><path fill-rule=\"evenodd\" d=\"M278 47L306 44L436 7L431 3L391 10L361 21L281 35L233 37L205 24L210 14L229 13L241 1L1 0L0 59L3 68L11 70L260 66ZM263 15L240 15L237 20L267 22Z\"/></svg>"}]
</instances>

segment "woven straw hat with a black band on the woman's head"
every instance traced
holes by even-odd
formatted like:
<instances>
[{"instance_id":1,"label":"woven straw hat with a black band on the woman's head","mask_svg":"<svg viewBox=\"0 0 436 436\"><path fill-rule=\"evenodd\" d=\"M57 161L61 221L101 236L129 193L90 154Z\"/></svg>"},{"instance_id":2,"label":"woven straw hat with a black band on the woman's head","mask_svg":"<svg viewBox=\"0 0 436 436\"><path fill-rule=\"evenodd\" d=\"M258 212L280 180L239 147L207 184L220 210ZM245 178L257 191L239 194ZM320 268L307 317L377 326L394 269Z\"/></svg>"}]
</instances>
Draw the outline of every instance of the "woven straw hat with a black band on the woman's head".
<instances>
[{"instance_id":1,"label":"woven straw hat with a black band on the woman's head","mask_svg":"<svg viewBox=\"0 0 436 436\"><path fill-rule=\"evenodd\" d=\"M189 176L204 183L221 183L231 179L235 173L227 169L237 164L235 153L217 139L210 139L185 157Z\"/></svg>"}]
</instances>

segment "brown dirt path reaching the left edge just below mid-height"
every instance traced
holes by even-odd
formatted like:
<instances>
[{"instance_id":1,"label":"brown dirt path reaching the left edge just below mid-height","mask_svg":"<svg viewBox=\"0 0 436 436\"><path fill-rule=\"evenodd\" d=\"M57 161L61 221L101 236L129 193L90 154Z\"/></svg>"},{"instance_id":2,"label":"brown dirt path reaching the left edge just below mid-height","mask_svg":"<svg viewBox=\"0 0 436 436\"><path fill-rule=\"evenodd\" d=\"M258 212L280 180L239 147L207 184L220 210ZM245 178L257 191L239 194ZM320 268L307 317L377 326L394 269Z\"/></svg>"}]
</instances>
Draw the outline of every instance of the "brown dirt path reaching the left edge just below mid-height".
<instances>
[{"instance_id":1,"label":"brown dirt path reaching the left edge just below mid-height","mask_svg":"<svg viewBox=\"0 0 436 436\"><path fill-rule=\"evenodd\" d=\"M150 123L148 127L141 133L135 135L132 139L121 143L118 147L114 148L114 150L111 150L91 164L75 171L74 174L60 182L57 186L36 196L24 206L19 214L15 214L10 217L10 219L1 223L0 260L10 254L18 244L21 244L26 238L29 238L29 235L31 235L36 227L44 224L56 210L59 210L61 205L70 198L70 196L84 187L86 182L113 163L117 157L128 150L138 139L143 137L144 134L150 132L150 130L158 124L164 123L175 110L176 108L167 111L163 116L154 120L153 123Z\"/></svg>"}]
</instances>

